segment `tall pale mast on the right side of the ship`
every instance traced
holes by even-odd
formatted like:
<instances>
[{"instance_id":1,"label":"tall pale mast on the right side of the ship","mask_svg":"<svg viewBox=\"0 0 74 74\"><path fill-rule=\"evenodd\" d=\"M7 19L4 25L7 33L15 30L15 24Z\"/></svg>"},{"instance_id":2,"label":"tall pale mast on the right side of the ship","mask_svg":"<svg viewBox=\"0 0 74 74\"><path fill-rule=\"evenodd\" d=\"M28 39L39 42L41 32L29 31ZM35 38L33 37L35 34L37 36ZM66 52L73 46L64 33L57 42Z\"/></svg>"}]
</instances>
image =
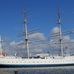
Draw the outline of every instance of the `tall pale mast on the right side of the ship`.
<instances>
[{"instance_id":1,"label":"tall pale mast on the right side of the ship","mask_svg":"<svg viewBox=\"0 0 74 74\"><path fill-rule=\"evenodd\" d=\"M61 56L63 57L62 29L61 29L61 17L60 17L59 7L58 7L58 20L57 20L57 24L59 26L60 51L61 51Z\"/></svg>"}]
</instances>

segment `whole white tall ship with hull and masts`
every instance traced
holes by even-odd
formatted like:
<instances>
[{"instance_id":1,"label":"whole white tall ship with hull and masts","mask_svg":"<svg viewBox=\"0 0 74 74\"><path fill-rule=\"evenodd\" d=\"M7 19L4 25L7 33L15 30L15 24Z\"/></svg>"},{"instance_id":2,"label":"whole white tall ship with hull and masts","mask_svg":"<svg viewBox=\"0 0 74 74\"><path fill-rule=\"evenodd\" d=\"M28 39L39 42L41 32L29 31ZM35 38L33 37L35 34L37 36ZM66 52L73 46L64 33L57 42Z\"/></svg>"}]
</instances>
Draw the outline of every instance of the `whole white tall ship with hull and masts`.
<instances>
[{"instance_id":1,"label":"whole white tall ship with hull and masts","mask_svg":"<svg viewBox=\"0 0 74 74\"><path fill-rule=\"evenodd\" d=\"M58 14L59 16L59 14ZM60 16L58 17L58 24L60 28L59 32L59 41L60 41L60 49L61 54L59 56L42 56L37 55L37 57L30 57L29 55L29 45L28 45L28 31L27 31L27 21L24 20L25 26L25 42L27 49L27 58L16 57L16 56L7 56L5 52L3 52L2 48L2 39L0 37L0 68L24 68L24 69L32 69L32 68L58 68L58 67L74 67L74 56L64 56L63 48L62 48L62 34L61 34L61 23Z\"/></svg>"}]
</instances>

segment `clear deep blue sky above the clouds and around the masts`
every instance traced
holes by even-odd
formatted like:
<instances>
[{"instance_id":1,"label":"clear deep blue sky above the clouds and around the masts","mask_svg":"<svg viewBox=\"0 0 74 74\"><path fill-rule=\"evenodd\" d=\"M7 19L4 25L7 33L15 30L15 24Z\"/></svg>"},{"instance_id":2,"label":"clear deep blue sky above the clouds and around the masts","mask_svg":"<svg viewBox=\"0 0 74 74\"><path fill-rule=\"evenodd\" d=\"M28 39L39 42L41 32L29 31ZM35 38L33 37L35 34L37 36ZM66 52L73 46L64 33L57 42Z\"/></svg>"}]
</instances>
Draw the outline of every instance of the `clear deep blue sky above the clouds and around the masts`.
<instances>
[{"instance_id":1,"label":"clear deep blue sky above the clouds and around the masts","mask_svg":"<svg viewBox=\"0 0 74 74\"><path fill-rule=\"evenodd\" d=\"M0 35L17 40L23 32L23 10L28 28L39 29L45 36L56 26L58 0L0 0ZM74 27L74 0L60 0L63 30ZM21 35L21 34L20 34Z\"/></svg>"}]
</instances>

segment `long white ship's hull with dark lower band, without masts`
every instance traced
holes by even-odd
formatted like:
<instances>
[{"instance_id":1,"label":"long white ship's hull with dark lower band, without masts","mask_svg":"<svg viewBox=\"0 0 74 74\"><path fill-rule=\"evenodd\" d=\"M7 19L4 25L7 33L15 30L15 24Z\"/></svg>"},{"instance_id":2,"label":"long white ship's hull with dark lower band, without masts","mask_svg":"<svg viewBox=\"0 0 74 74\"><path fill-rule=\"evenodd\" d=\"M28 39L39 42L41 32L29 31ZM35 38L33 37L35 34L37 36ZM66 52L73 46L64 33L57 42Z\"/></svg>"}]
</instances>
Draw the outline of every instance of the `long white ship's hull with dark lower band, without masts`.
<instances>
[{"instance_id":1,"label":"long white ship's hull with dark lower band, without masts","mask_svg":"<svg viewBox=\"0 0 74 74\"><path fill-rule=\"evenodd\" d=\"M0 68L74 67L74 56L45 59L0 57Z\"/></svg>"}]
</instances>

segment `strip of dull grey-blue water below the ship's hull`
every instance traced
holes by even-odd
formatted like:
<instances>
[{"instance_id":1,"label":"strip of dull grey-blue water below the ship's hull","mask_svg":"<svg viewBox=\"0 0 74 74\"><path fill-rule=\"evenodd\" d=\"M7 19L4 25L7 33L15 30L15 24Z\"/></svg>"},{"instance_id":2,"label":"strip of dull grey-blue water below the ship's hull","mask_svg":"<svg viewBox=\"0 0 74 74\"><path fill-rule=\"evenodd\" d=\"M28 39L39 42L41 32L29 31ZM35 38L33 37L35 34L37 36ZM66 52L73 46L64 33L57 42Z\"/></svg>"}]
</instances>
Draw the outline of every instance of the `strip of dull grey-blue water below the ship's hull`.
<instances>
[{"instance_id":1,"label":"strip of dull grey-blue water below the ship's hull","mask_svg":"<svg viewBox=\"0 0 74 74\"><path fill-rule=\"evenodd\" d=\"M0 74L15 74L13 71L0 71ZM16 74L74 74L74 69L32 69L20 70Z\"/></svg>"}]
</instances>

